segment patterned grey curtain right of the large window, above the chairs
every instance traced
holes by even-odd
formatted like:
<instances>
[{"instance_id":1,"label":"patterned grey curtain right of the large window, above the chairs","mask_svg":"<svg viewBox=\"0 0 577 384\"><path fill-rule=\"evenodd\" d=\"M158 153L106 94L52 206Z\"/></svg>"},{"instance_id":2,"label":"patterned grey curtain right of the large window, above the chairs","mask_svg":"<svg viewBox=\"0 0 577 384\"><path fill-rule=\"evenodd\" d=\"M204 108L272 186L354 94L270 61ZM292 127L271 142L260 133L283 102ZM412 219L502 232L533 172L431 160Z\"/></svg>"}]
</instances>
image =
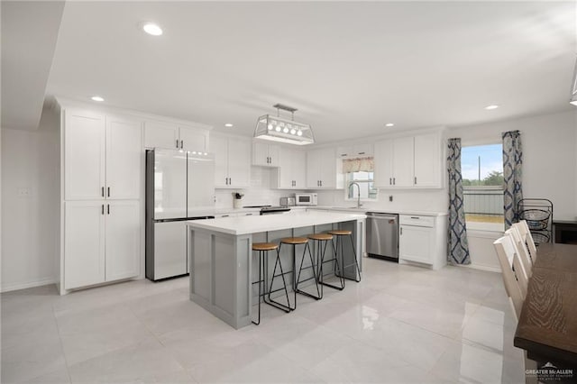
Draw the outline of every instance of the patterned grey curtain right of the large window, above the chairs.
<instances>
[{"instance_id":1,"label":"patterned grey curtain right of the large window, above the chairs","mask_svg":"<svg viewBox=\"0 0 577 384\"><path fill-rule=\"evenodd\" d=\"M503 194L505 208L505 230L519 221L518 203L523 198L521 187L521 166L523 165L523 147L521 133L509 131L503 133Z\"/></svg>"}]
</instances>

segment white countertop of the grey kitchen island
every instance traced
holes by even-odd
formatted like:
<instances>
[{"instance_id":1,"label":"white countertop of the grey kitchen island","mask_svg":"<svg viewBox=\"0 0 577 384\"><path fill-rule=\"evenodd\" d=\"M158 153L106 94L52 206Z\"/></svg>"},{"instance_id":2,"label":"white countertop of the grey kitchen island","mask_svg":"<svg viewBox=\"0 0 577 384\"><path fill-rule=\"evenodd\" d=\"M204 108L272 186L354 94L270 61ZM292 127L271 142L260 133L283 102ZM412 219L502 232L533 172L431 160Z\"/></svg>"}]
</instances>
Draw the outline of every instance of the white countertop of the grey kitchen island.
<instances>
[{"instance_id":1,"label":"white countertop of the grey kitchen island","mask_svg":"<svg viewBox=\"0 0 577 384\"><path fill-rule=\"evenodd\" d=\"M279 231L312 225L332 224L364 219L366 215L342 212L297 212L289 215L223 217L186 222L192 228L234 235Z\"/></svg>"}]
</instances>

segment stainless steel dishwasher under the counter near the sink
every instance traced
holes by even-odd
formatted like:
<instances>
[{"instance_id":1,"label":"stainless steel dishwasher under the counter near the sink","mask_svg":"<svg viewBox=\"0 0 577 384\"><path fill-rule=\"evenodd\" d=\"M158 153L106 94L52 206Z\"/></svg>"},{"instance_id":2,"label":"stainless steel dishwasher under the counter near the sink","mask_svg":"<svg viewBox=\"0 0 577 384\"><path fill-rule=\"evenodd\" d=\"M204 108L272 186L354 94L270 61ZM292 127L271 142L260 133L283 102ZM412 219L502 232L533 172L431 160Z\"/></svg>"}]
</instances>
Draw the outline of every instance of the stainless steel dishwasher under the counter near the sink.
<instances>
[{"instance_id":1,"label":"stainless steel dishwasher under the counter near the sink","mask_svg":"<svg viewBox=\"0 0 577 384\"><path fill-rule=\"evenodd\" d=\"M367 213L367 254L398 262L398 215Z\"/></svg>"}]
</instances>

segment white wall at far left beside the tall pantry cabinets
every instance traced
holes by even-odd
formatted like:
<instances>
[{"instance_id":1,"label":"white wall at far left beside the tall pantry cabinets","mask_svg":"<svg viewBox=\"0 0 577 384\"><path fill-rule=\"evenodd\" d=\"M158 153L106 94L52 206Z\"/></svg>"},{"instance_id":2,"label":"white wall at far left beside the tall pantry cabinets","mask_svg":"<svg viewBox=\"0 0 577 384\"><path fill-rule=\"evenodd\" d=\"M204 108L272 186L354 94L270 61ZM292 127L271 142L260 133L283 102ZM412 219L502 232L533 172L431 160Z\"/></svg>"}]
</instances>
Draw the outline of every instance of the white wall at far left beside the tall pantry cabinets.
<instances>
[{"instance_id":1,"label":"white wall at far left beside the tall pantry cabinets","mask_svg":"<svg viewBox=\"0 0 577 384\"><path fill-rule=\"evenodd\" d=\"M45 110L38 131L2 129L2 291L55 282L60 135ZM29 196L22 196L26 191Z\"/></svg>"}]
</instances>

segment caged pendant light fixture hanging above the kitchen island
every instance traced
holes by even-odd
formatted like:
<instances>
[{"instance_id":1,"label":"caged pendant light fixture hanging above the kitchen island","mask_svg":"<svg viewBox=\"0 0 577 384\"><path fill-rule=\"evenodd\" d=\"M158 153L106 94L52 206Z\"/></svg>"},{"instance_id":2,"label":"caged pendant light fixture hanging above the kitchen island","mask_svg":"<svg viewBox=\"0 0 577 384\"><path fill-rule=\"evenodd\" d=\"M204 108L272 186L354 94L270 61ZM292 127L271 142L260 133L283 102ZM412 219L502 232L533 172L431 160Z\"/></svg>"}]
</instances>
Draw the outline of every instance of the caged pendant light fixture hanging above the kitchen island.
<instances>
[{"instance_id":1,"label":"caged pendant light fixture hanging above the kitchen island","mask_svg":"<svg viewBox=\"0 0 577 384\"><path fill-rule=\"evenodd\" d=\"M297 108L281 104L273 106L277 108L277 115L265 114L259 117L254 129L255 138L296 145L307 145L315 142L311 126L294 120L294 113ZM280 109L289 111L293 117L291 119L280 117Z\"/></svg>"}]
</instances>

